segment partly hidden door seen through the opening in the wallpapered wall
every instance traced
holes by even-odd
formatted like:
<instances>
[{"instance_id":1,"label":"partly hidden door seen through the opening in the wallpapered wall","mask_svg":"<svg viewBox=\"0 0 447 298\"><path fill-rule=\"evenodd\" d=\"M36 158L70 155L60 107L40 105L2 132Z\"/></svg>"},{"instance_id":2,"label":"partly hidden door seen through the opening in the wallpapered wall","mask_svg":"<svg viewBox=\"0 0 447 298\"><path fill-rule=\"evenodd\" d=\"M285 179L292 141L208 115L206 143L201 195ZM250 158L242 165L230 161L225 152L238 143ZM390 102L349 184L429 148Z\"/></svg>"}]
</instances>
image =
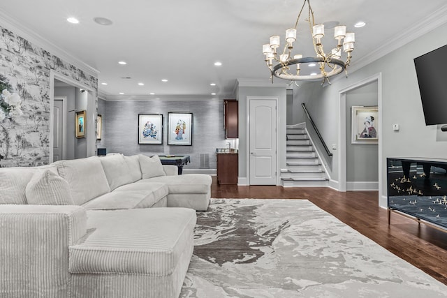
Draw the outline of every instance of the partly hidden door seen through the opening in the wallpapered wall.
<instances>
[{"instance_id":1,"label":"partly hidden door seen through the opening in the wallpapered wall","mask_svg":"<svg viewBox=\"0 0 447 298\"><path fill-rule=\"evenodd\" d=\"M53 108L53 162L66 158L66 98L55 97Z\"/></svg>"}]
</instances>

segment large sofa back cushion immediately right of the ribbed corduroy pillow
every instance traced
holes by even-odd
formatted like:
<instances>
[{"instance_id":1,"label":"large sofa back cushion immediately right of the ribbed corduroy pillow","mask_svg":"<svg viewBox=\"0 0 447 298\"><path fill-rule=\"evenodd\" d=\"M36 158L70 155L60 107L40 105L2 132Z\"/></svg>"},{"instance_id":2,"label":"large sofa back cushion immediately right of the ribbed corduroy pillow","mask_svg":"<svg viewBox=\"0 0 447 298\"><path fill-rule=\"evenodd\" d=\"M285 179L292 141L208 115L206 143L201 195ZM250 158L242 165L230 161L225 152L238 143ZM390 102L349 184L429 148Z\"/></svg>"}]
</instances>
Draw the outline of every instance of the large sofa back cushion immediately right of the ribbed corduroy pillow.
<instances>
[{"instance_id":1,"label":"large sofa back cushion immediately right of the ribbed corduroy pillow","mask_svg":"<svg viewBox=\"0 0 447 298\"><path fill-rule=\"evenodd\" d=\"M103 166L98 156L57 161L57 172L70 186L71 196L77 205L110 192Z\"/></svg>"}]
</instances>

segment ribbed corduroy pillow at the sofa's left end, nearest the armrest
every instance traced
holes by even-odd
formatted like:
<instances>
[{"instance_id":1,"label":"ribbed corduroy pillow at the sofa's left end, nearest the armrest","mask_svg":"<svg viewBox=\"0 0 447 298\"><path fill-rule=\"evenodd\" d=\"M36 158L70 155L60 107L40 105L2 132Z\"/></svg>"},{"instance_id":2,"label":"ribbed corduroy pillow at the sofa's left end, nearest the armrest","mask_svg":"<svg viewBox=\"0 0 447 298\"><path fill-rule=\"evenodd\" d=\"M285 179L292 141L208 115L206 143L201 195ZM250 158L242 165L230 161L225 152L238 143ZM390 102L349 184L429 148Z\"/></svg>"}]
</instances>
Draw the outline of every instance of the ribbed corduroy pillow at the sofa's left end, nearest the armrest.
<instances>
[{"instance_id":1,"label":"ribbed corduroy pillow at the sofa's left end, nearest the armrest","mask_svg":"<svg viewBox=\"0 0 447 298\"><path fill-rule=\"evenodd\" d=\"M28 204L74 205L70 186L50 170L37 170L25 188Z\"/></svg>"}]
</instances>

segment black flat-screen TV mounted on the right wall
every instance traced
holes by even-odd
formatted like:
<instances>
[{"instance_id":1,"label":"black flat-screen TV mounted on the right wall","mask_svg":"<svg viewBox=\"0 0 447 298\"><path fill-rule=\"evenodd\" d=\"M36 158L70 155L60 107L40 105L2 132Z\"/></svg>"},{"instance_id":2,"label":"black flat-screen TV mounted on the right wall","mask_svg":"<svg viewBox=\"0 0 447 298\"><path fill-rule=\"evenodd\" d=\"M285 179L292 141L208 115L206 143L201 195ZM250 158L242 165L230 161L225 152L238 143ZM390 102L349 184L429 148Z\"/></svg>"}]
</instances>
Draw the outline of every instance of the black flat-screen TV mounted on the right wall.
<instances>
[{"instance_id":1,"label":"black flat-screen TV mounted on the right wall","mask_svg":"<svg viewBox=\"0 0 447 298\"><path fill-rule=\"evenodd\" d=\"M414 59L425 125L447 124L446 57L444 45Z\"/></svg>"}]
</instances>

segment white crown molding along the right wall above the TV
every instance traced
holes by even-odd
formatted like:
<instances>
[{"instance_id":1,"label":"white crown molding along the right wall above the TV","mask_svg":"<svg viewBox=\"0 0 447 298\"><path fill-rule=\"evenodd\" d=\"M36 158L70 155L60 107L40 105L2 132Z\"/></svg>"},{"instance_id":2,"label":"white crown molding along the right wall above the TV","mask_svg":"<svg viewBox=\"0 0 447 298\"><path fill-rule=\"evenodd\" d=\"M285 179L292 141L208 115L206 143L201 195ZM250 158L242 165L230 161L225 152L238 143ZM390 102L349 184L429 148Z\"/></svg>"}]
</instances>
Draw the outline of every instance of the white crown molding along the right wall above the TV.
<instances>
[{"instance_id":1,"label":"white crown molding along the right wall above the TV","mask_svg":"<svg viewBox=\"0 0 447 298\"><path fill-rule=\"evenodd\" d=\"M447 22L447 5L441 7L436 12L428 15L420 22L414 24L414 26L409 27L408 29L398 33L397 35L390 38L387 43L384 43L376 50L370 52L369 54L362 57L353 64L353 67L348 69L349 72L353 73L354 71L371 64L372 62L380 59L381 57L389 54L397 50L398 48L410 43L411 41L423 36L425 33L428 33L437 27L445 24ZM340 76L341 77L341 76Z\"/></svg>"}]
</instances>

